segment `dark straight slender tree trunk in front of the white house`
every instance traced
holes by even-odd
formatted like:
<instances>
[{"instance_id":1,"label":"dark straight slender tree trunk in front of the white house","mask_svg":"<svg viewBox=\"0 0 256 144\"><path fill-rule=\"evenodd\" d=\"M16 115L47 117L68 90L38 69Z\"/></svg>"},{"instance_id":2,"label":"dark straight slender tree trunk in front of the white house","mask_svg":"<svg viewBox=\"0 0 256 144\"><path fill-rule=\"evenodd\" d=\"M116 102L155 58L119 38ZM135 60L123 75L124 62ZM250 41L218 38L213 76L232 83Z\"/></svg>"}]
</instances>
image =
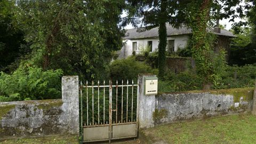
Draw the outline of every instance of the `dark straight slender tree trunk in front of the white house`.
<instances>
[{"instance_id":1,"label":"dark straight slender tree trunk in front of the white house","mask_svg":"<svg viewBox=\"0 0 256 144\"><path fill-rule=\"evenodd\" d=\"M158 36L159 36L159 44L158 44L158 76L163 77L165 72L165 49L166 49L166 41L167 41L167 34L166 34L166 22L167 22L167 14L166 14L166 0L161 2L161 12L158 17L159 21L159 29L158 29Z\"/></svg>"}]
</instances>

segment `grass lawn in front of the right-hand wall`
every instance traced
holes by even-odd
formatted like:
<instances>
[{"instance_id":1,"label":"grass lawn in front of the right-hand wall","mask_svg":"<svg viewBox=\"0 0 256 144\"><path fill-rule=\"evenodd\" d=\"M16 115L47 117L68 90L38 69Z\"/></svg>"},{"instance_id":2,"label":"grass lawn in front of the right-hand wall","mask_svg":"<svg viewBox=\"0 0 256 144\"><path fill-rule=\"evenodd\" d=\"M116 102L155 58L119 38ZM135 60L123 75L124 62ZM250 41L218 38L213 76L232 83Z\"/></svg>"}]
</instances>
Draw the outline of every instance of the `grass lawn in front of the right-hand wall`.
<instances>
[{"instance_id":1,"label":"grass lawn in front of the right-hand wall","mask_svg":"<svg viewBox=\"0 0 256 144\"><path fill-rule=\"evenodd\" d=\"M143 133L167 143L256 143L256 116L239 114L172 123Z\"/></svg>"}]
</instances>

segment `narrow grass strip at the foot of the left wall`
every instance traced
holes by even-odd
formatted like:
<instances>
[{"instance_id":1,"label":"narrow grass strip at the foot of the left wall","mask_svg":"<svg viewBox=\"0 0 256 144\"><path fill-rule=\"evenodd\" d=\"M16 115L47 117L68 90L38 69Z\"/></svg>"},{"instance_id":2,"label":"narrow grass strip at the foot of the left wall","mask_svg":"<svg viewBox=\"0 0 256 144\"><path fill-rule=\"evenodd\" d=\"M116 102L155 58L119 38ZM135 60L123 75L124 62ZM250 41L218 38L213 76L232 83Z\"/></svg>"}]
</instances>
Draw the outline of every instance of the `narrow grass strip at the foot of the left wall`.
<instances>
[{"instance_id":1,"label":"narrow grass strip at the foot of the left wall","mask_svg":"<svg viewBox=\"0 0 256 144\"><path fill-rule=\"evenodd\" d=\"M53 137L44 137L44 138L23 138L23 139L12 139L0 141L1 144L73 144L78 143L78 139L75 136L53 136Z\"/></svg>"}]
</instances>

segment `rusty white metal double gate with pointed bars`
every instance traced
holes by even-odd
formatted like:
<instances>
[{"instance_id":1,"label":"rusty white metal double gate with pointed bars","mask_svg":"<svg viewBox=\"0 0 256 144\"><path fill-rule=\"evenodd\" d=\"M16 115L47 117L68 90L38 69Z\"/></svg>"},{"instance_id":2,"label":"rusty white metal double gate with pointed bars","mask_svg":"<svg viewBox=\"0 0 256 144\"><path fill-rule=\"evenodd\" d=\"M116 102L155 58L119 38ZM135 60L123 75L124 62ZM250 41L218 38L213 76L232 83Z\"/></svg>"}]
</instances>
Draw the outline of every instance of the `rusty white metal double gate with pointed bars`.
<instances>
[{"instance_id":1,"label":"rusty white metal double gate with pointed bars","mask_svg":"<svg viewBox=\"0 0 256 144\"><path fill-rule=\"evenodd\" d=\"M138 136L137 84L80 86L83 142L110 141ZM114 94L113 94L114 92Z\"/></svg>"}]
</instances>

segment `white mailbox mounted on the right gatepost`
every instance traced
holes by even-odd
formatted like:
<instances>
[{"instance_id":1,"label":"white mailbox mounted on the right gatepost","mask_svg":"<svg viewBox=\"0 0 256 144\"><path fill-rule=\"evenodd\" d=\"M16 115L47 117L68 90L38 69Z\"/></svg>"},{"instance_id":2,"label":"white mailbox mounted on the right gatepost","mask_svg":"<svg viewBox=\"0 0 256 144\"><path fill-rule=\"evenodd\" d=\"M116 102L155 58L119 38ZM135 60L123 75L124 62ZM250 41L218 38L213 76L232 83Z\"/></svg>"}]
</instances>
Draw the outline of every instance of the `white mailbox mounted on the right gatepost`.
<instances>
[{"instance_id":1,"label":"white mailbox mounted on the right gatepost","mask_svg":"<svg viewBox=\"0 0 256 144\"><path fill-rule=\"evenodd\" d=\"M157 94L157 77L145 77L145 95Z\"/></svg>"}]
</instances>

